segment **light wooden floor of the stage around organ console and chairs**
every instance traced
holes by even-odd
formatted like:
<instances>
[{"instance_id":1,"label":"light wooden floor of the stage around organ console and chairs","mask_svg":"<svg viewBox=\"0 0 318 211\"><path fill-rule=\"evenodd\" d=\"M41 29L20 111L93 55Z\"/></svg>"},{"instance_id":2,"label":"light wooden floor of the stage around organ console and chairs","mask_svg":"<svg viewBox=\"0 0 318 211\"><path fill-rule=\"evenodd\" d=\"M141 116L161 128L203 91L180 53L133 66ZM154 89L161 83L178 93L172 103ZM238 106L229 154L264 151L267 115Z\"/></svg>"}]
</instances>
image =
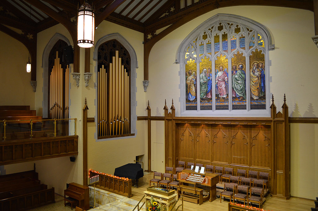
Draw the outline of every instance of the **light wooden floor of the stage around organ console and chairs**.
<instances>
[{"instance_id":1,"label":"light wooden floor of the stage around organ console and chairs","mask_svg":"<svg viewBox=\"0 0 318 211\"><path fill-rule=\"evenodd\" d=\"M143 191L149 187L149 180L153 178L153 173L145 175L143 178L139 180L139 188L132 187L132 199L139 201L144 195ZM220 203L220 199L209 202L205 201L202 205L194 204L191 202L184 201L184 211L194 211L194 210L202 210L202 211L227 211L228 210L228 202L222 199L222 203ZM178 202L179 205L180 202ZM267 196L266 201L264 202L263 209L273 210L273 211L308 211L311 207L315 206L313 200L306 200L300 198L290 198L289 200L277 199L271 196ZM181 207L180 207L181 208Z\"/></svg>"}]
</instances>

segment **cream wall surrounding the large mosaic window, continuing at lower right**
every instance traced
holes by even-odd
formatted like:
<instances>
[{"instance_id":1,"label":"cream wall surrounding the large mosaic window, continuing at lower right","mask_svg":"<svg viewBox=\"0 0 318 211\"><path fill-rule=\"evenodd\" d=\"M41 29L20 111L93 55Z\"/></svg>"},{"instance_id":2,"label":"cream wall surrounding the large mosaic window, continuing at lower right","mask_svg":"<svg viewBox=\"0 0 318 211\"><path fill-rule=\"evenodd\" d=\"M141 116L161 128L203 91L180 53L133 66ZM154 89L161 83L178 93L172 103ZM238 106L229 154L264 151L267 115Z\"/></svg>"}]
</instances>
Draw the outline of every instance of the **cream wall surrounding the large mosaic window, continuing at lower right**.
<instances>
[{"instance_id":1,"label":"cream wall surrounding the large mosaic window, continuing at lower right","mask_svg":"<svg viewBox=\"0 0 318 211\"><path fill-rule=\"evenodd\" d=\"M157 42L149 55L149 86L146 92L146 99L149 100L152 109L159 108L153 115L163 116L164 112L160 108L163 108L164 100L167 99L169 108L173 98L176 116L180 116L179 64L174 64L176 51L192 30L218 13L245 16L268 28L275 44L275 50L269 52L269 60L272 62L270 91L275 97L277 111L281 111L283 96L286 93L290 116L316 117L318 98L315 97L314 90L318 88L318 50L311 39L314 36L313 12L266 6L236 6L213 10L184 24ZM156 129L152 129L152 134L164 133L164 129L154 130ZM313 152L314 146L317 148L317 131L317 127L311 124L291 126L293 196L314 199L317 194L317 175L307 175L306 169L309 167L304 165L310 163L312 167L315 161L317 166L317 153ZM307 149L311 153L308 153ZM317 172L316 167L313 169L315 170L309 172ZM314 182L315 186L310 185L308 181Z\"/></svg>"}]
</instances>

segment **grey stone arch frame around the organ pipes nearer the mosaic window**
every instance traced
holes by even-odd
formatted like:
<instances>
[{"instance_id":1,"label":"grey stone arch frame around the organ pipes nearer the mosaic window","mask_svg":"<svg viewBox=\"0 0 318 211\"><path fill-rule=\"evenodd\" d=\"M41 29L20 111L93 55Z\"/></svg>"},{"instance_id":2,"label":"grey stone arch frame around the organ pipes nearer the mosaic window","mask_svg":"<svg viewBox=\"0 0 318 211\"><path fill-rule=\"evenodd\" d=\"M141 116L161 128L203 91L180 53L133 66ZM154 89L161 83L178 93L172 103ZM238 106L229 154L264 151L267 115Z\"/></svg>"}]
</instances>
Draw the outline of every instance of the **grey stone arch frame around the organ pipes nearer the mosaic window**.
<instances>
[{"instance_id":1,"label":"grey stone arch frame around the organ pipes nearer the mosaic window","mask_svg":"<svg viewBox=\"0 0 318 211\"><path fill-rule=\"evenodd\" d=\"M136 129L136 121L137 121L137 115L136 115L136 106L137 106L137 101L136 101L136 92L137 92L137 87L136 87L136 78L137 78L137 74L136 74L136 69L138 68L138 60L137 60L137 54L135 52L135 49L133 48L133 46L125 39L125 37L123 37L121 34L119 33L112 33L112 34L108 34L105 35L103 37L101 37L95 44L94 47L94 52L93 52L93 60L96 62L95 68L94 68L94 72L96 74L96 78L97 78L97 74L98 74L98 70L97 70L97 56L98 56L98 48L101 44L110 41L110 40L117 40L119 43L121 43L128 51L129 55L130 55L130 61L131 61L131 69L130 69L130 104L131 104L131 133L135 134L134 136L122 136L122 137L116 137L116 138L106 138L106 139L98 139L97 138L97 127L95 130L95 134L94 134L94 138L96 141L108 141L108 140L115 140L115 139L124 139L124 138L132 138L135 137L137 135L137 129ZM97 95L98 95L98 86L97 86L97 80L95 80L95 123L97 125Z\"/></svg>"}]
</instances>

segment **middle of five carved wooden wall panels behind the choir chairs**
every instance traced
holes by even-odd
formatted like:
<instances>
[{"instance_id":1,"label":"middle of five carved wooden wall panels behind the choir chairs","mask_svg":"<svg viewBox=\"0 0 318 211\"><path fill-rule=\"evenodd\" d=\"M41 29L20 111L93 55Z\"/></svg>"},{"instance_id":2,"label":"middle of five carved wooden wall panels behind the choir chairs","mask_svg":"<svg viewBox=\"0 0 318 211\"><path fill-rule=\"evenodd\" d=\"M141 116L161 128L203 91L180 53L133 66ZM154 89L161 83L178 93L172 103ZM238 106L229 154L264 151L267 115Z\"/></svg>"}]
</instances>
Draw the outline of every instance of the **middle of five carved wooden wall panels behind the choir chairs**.
<instances>
[{"instance_id":1,"label":"middle of five carved wooden wall panels behind the choir chairs","mask_svg":"<svg viewBox=\"0 0 318 211\"><path fill-rule=\"evenodd\" d=\"M230 125L219 124L213 127L212 162L230 164Z\"/></svg>"}]
</instances>

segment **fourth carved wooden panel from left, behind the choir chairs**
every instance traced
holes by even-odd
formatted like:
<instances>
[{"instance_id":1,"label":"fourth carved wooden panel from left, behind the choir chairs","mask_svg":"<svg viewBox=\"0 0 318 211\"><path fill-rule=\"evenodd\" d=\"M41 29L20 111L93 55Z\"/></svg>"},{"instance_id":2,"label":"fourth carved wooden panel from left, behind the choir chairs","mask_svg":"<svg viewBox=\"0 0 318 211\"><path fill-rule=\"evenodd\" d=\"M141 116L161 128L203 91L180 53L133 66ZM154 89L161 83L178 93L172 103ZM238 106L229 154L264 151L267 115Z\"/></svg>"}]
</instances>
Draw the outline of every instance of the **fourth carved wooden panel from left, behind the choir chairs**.
<instances>
[{"instance_id":1,"label":"fourth carved wooden panel from left, behind the choir chairs","mask_svg":"<svg viewBox=\"0 0 318 211\"><path fill-rule=\"evenodd\" d=\"M250 166L249 125L232 125L231 165Z\"/></svg>"}]
</instances>

